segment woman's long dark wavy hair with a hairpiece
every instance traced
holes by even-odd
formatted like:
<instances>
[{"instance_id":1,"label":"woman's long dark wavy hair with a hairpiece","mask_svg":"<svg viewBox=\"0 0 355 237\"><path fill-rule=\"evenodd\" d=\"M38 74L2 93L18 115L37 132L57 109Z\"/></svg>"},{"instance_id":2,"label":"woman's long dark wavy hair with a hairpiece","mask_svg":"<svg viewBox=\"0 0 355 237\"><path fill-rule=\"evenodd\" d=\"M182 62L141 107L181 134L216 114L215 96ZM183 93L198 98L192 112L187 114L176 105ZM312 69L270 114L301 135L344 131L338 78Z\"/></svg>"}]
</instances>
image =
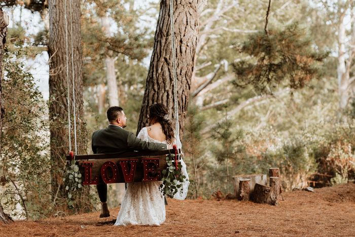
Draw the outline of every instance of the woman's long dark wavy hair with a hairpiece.
<instances>
[{"instance_id":1,"label":"woman's long dark wavy hair with a hairpiece","mask_svg":"<svg viewBox=\"0 0 355 237\"><path fill-rule=\"evenodd\" d=\"M154 104L148 108L148 115L151 122L159 122L166 137L166 141L171 144L174 139L174 129L168 116L168 108L163 104Z\"/></svg>"}]
</instances>

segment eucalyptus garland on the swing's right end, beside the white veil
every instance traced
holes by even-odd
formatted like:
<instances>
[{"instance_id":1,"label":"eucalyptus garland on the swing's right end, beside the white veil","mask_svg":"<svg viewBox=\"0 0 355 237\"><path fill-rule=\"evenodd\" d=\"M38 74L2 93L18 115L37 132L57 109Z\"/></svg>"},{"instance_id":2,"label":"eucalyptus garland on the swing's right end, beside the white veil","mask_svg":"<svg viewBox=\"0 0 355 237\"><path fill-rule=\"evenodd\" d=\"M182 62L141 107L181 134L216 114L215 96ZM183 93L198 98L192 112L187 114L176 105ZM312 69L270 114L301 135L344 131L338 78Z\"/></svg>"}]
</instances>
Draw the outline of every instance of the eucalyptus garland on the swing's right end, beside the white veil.
<instances>
[{"instance_id":1,"label":"eucalyptus garland on the swing's right end, beside the white veil","mask_svg":"<svg viewBox=\"0 0 355 237\"><path fill-rule=\"evenodd\" d=\"M162 171L163 177L161 181L163 183L160 185L159 189L160 191L164 194L167 195L168 197L173 197L175 193L177 192L183 192L183 183L186 179L185 175L182 175L181 173L181 168L182 165L179 163L177 165L177 170L175 165L173 164L173 159L175 157L175 154L169 154L166 156L166 163L167 167L165 170Z\"/></svg>"}]
</instances>

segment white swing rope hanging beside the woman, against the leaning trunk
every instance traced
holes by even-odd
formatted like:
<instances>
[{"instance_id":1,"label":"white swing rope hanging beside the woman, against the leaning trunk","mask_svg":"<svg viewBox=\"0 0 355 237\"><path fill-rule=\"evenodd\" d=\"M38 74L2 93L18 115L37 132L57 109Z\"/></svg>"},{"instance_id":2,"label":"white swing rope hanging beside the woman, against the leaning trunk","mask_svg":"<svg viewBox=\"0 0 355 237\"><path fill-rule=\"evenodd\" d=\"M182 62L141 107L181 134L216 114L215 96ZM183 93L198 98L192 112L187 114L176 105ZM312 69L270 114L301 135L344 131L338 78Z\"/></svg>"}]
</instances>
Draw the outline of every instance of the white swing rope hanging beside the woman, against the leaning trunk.
<instances>
[{"instance_id":1,"label":"white swing rope hanging beside the woman, against the leaning trunk","mask_svg":"<svg viewBox=\"0 0 355 237\"><path fill-rule=\"evenodd\" d=\"M175 113L175 127L176 127L176 143L180 141L180 124L179 124L179 109L177 101L177 76L176 76L176 56L175 56L175 37L174 37L174 11L173 3L170 0L170 25L171 25L171 51L172 51L172 70L174 79L174 113Z\"/></svg>"}]
</instances>

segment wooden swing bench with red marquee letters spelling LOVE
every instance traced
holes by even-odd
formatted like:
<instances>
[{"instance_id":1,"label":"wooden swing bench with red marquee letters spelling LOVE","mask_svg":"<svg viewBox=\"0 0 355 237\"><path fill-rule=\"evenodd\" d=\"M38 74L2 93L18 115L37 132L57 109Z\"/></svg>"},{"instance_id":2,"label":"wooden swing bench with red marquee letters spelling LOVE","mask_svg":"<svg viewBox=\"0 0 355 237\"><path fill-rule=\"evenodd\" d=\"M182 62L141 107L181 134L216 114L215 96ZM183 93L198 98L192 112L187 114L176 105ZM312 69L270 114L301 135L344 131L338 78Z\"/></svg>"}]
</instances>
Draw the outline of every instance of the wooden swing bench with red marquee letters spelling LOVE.
<instances>
[{"instance_id":1,"label":"wooden swing bench with red marquee letters spelling LOVE","mask_svg":"<svg viewBox=\"0 0 355 237\"><path fill-rule=\"evenodd\" d=\"M179 149L180 150L180 149ZM160 181L166 169L166 156L175 149L138 151L116 154L68 155L75 159L82 176L82 185Z\"/></svg>"}]
</instances>

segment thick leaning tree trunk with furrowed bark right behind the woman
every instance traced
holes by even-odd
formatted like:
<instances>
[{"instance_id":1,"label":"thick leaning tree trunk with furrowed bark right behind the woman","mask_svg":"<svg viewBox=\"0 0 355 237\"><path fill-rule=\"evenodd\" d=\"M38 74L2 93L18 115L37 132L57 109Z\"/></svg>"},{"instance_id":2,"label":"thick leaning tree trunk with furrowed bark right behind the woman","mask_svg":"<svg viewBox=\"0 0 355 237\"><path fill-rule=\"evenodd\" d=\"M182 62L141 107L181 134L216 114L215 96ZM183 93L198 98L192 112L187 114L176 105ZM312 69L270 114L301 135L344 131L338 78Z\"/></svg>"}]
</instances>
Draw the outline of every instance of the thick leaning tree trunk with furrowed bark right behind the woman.
<instances>
[{"instance_id":1,"label":"thick leaning tree trunk with furrowed bark right behind the woman","mask_svg":"<svg viewBox=\"0 0 355 237\"><path fill-rule=\"evenodd\" d=\"M204 0L174 0L174 29L176 42L177 104L180 127L183 130L186 117L191 77L195 64L195 52L199 35L200 6ZM147 125L148 107L162 103L173 113L173 68L171 51L170 1L162 0L154 38L154 47L146 81L146 90L140 110L137 133ZM181 130L181 132L182 132Z\"/></svg>"}]
</instances>

